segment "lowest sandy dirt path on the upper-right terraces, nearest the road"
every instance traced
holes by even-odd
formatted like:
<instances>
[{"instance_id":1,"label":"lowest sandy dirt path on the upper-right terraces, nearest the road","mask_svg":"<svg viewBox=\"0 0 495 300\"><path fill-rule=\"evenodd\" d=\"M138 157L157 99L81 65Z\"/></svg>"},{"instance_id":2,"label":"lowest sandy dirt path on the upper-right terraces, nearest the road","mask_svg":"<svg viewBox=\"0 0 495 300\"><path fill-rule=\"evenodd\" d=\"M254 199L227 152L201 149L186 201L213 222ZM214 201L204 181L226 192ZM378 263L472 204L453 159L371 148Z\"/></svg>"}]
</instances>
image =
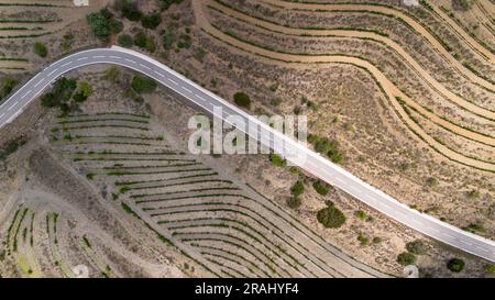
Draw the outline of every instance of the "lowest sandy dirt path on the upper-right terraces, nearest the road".
<instances>
[{"instance_id":1,"label":"lowest sandy dirt path on the upper-right terraces, nearest the road","mask_svg":"<svg viewBox=\"0 0 495 300\"><path fill-rule=\"evenodd\" d=\"M204 11L204 2L202 1L193 1L193 8L194 13L196 18L197 24L205 30L208 34L219 38L220 41L223 41L226 44L231 45L233 47L237 47L241 49L242 52L248 52L251 54L254 54L256 56L262 56L261 58L270 64L278 64L282 66L305 66L307 64L348 64L348 65L354 65L359 67L363 67L367 69L375 78L376 81L381 84L383 87L383 90L387 98L389 99L389 102L393 107L393 109L396 111L398 116L407 124L407 126L413 130L422 141L425 141L427 144L429 144L433 149L439 152L440 154L444 155L446 157L468 165L472 166L479 169L488 170L488 171L495 171L495 165L487 163L487 162L481 162L468 156L464 156L460 153L457 153L447 146L442 145L438 141L436 141L433 137L428 135L416 122L414 122L408 113L404 110L402 104L397 101L396 97L400 97L404 101L407 101L408 103L411 103L413 105L417 105L410 98L408 98L406 95L404 95L397 87L395 87L383 73L381 73L375 66L372 64L358 59L354 57L346 57L346 56L301 56L301 55L293 55L293 54L284 54L284 53L277 53L267 51L264 48L260 48L257 46L241 42L232 36L229 36L224 34L223 32L215 29L208 21L205 11ZM260 58L260 57L258 57ZM436 116L439 119L438 116ZM440 120L437 120L440 121ZM488 136L480 136L477 133L473 132L462 132L463 134L468 135L471 140L476 140L482 137L483 141L487 142L490 145L494 145L494 141L492 137Z\"/></svg>"}]
</instances>

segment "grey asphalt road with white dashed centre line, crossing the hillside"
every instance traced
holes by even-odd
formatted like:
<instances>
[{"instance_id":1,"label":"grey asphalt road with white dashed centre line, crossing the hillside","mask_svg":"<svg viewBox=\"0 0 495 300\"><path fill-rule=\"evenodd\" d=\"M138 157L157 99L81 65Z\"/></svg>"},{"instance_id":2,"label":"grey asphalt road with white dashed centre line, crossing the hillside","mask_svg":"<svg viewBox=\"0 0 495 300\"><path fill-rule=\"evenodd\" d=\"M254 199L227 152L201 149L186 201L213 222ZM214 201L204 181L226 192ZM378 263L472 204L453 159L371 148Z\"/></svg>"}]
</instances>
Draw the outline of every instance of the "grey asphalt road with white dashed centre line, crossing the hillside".
<instances>
[{"instance_id":1,"label":"grey asphalt road with white dashed centre line, crossing the hillside","mask_svg":"<svg viewBox=\"0 0 495 300\"><path fill-rule=\"evenodd\" d=\"M408 227L466 253L495 262L495 242L471 234L441 222L436 218L410 209L341 167L330 163L305 145L271 129L254 116L201 88L165 65L138 52L113 46L112 48L82 51L53 63L18 89L0 105L0 127L12 122L36 96L58 77L69 70L94 64L120 65L142 73L179 93L212 115L217 115L213 108L221 107L222 115L217 116L226 120L229 115L238 115L246 123L252 122L252 124L258 125L258 132L246 132L246 134L257 138L261 144L270 146L277 152L280 152L284 147L288 153L304 154L306 159L302 163L298 163L290 157L287 157L287 159L293 160L300 168L321 180L336 186ZM284 143L276 143L276 141L283 141Z\"/></svg>"}]
</instances>

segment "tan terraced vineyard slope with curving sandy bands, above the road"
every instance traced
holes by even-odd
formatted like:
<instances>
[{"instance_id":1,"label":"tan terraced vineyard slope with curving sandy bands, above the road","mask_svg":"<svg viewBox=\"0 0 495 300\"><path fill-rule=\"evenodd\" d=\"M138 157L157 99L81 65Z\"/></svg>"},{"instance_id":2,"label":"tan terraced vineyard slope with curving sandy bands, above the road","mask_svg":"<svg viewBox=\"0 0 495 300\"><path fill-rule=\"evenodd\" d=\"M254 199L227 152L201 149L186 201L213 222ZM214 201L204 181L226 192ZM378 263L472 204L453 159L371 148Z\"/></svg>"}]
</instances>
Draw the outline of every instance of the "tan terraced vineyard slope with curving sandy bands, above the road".
<instances>
[{"instance_id":1,"label":"tan terraced vineyard slope with curving sandy bands, above the road","mask_svg":"<svg viewBox=\"0 0 495 300\"><path fill-rule=\"evenodd\" d=\"M252 2L258 3L254 5ZM462 67L446 51L444 45L438 40L435 40L433 43L432 40L436 37L429 31L425 31L422 24L403 12L381 5L307 4L288 1L250 1L248 5L242 7L228 3L228 1L211 0L193 2L193 5L198 24L211 37L229 46L249 52L264 62L285 66L343 64L365 70L386 96L387 104L397 116L418 138L424 141L435 152L451 160L480 170L495 170L493 162L493 147L495 146L493 137L494 114L492 112L493 85L490 82L492 79L486 81L479 74L473 74L471 69ZM285 9L282 13L290 13L293 15L292 22L299 23L299 25L278 24L277 21L266 20L266 16L261 16L258 13L262 8L265 10L265 15L276 14L276 10ZM266 10L271 10L272 13L266 13ZM297 13L293 13L292 10L297 11ZM326 13L331 10L339 12L348 12L350 10L360 13L367 13L369 11L385 13L384 11L386 11L387 13L393 13L422 34L424 37L433 44L435 49L440 53L443 59L447 59L453 70L461 74L474 86L482 87L479 92L492 100L485 103L476 103L476 101L471 101L461 95L451 92L449 88L444 87L444 82L433 78L436 75L430 75L429 70L419 65L399 44L391 41L387 37L387 33L362 32L359 29L326 30L310 27L310 24L307 23L309 14L306 14L307 19L302 18L301 11L304 10L310 10L315 13ZM211 15L211 18L208 18L208 15ZM306 26L301 25L304 22L306 22ZM454 26L454 24L451 24L451 26ZM460 36L468 38L462 33L460 33ZM312 37L315 38L311 41ZM346 51L345 48L337 49L336 44L323 44L321 46L322 38L341 40L339 43L343 44L345 38L349 37L361 40L363 43L373 40L393 48L396 54L403 56L407 62L405 68L398 69L402 71L411 70L410 78L421 79L421 85L429 89L432 98L425 102L425 96L416 96L418 93L417 87L407 84L407 80L405 84L389 79L403 75L395 74L389 76L389 74L394 74L398 69L393 70L386 67L381 62L383 59L377 58L380 57L378 54L370 56L370 51L352 54L351 52L358 49L355 46L348 46ZM476 45L474 40L470 40L472 47ZM284 46L285 44L290 46ZM336 51L321 53L327 47L333 47ZM382 55L383 46L378 45L378 48L377 52ZM476 49L479 48L476 47ZM484 54L483 51L475 53L483 56L485 62L491 62L491 57L493 57L492 54ZM422 91L425 93L425 89ZM431 99L436 100L431 101ZM446 105L451 107L451 109L446 110Z\"/></svg>"}]
</instances>

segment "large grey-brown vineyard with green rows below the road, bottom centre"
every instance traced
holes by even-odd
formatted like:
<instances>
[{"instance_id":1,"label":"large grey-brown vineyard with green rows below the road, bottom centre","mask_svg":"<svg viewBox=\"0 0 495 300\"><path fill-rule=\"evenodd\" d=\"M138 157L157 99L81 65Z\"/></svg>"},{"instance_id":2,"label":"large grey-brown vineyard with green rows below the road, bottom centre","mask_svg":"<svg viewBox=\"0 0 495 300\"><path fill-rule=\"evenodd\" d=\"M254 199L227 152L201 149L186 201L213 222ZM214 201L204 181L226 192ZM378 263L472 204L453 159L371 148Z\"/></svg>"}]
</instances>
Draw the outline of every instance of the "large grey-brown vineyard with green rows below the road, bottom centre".
<instances>
[{"instance_id":1,"label":"large grey-brown vineyard with green rows below the road, bottom centre","mask_svg":"<svg viewBox=\"0 0 495 300\"><path fill-rule=\"evenodd\" d=\"M382 276L146 127L145 115L73 115L50 134L80 174L100 189L110 185L109 201L216 276Z\"/></svg>"}]
</instances>

